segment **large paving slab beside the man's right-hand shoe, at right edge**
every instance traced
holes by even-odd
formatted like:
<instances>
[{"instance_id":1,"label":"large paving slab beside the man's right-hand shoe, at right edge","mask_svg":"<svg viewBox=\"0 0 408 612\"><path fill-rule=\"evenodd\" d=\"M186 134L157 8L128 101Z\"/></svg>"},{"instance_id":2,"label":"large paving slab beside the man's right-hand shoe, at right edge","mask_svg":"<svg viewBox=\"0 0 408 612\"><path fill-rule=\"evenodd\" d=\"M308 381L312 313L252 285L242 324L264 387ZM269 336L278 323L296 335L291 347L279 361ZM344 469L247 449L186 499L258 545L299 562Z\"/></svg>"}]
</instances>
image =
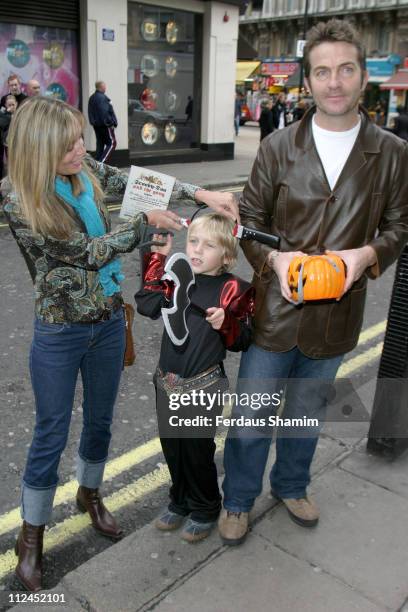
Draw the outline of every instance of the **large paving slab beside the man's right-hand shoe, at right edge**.
<instances>
[{"instance_id":1,"label":"large paving slab beside the man's right-hand shoe, at right edge","mask_svg":"<svg viewBox=\"0 0 408 612\"><path fill-rule=\"evenodd\" d=\"M326 471L311 489L321 508L316 529L295 525L281 505L254 527L254 534L379 606L398 610L408 592L407 499L340 468Z\"/></svg>"}]
</instances>

